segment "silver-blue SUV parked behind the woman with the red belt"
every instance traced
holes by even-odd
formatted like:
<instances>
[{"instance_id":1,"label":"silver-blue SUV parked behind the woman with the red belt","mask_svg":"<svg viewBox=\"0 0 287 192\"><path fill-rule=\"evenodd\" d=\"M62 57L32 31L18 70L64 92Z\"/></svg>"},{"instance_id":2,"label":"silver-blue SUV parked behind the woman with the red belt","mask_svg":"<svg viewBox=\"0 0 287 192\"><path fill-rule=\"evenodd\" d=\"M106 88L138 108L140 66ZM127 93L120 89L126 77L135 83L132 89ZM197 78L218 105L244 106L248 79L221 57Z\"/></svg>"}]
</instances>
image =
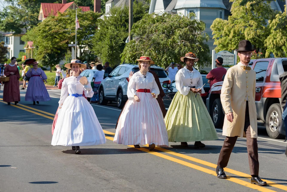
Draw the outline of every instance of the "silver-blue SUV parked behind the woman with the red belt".
<instances>
[{"instance_id":1,"label":"silver-blue SUV parked behind the woman with the red belt","mask_svg":"<svg viewBox=\"0 0 287 192\"><path fill-rule=\"evenodd\" d=\"M163 68L152 65L150 67L154 71L161 82L170 84L170 78L168 78ZM118 108L123 108L127 98L126 91L128 88L129 72L138 72L138 65L135 63L121 64L117 66L110 74L105 74L106 78L101 82L99 87L99 102L101 105L107 104L108 101L116 101Z\"/></svg>"}]
</instances>

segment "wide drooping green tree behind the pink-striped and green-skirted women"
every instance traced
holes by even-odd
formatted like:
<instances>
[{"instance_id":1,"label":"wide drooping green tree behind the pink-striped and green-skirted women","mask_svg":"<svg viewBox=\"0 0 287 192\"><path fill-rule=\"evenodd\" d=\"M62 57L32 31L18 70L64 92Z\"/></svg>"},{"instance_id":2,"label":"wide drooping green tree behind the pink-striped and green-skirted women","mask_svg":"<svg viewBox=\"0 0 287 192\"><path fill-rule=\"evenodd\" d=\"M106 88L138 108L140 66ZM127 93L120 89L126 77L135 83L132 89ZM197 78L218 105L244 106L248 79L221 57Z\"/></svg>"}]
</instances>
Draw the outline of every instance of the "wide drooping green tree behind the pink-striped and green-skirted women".
<instances>
[{"instance_id":1,"label":"wide drooping green tree behind the pink-striped and green-skirted women","mask_svg":"<svg viewBox=\"0 0 287 192\"><path fill-rule=\"evenodd\" d=\"M191 16L194 14L191 13ZM146 14L132 28L134 39L126 44L121 61L135 62L142 55L150 56L155 64L165 67L187 52L195 53L198 66L210 64L209 39L205 23L187 16L164 13Z\"/></svg>"}]
</instances>

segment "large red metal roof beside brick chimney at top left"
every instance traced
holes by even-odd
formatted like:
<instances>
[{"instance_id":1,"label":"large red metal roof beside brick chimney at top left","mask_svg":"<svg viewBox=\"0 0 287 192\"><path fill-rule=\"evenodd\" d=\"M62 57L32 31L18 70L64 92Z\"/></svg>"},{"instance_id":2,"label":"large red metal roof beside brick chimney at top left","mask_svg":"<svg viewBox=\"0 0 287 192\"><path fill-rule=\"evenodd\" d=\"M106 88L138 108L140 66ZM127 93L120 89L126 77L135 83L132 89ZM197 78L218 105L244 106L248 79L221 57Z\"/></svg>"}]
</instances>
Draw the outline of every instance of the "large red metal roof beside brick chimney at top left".
<instances>
[{"instance_id":1,"label":"large red metal roof beside brick chimney at top left","mask_svg":"<svg viewBox=\"0 0 287 192\"><path fill-rule=\"evenodd\" d=\"M56 15L57 16L58 11L61 13L64 13L73 3L74 3L74 1L72 1L70 3L65 3L65 4L62 4L62 3L41 3L44 18L47 18L49 15ZM82 11L89 11L90 10L90 7L81 6L80 8L82 8Z\"/></svg>"}]
</instances>

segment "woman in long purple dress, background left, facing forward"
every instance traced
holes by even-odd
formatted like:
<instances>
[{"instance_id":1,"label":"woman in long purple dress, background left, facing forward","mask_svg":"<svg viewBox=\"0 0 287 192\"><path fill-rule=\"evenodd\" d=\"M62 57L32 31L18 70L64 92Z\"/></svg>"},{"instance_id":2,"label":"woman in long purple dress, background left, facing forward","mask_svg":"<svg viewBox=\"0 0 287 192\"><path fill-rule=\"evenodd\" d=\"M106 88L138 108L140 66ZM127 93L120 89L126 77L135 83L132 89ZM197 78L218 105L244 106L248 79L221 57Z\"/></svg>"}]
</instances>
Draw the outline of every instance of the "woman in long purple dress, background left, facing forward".
<instances>
[{"instance_id":1,"label":"woman in long purple dress, background left, facing forward","mask_svg":"<svg viewBox=\"0 0 287 192\"><path fill-rule=\"evenodd\" d=\"M38 63L32 63L33 68L26 73L30 77L29 86L26 91L25 101L33 101L33 105L39 104L39 101L50 101L51 98L45 87L44 81L47 82L47 75L38 68Z\"/></svg>"}]
</instances>

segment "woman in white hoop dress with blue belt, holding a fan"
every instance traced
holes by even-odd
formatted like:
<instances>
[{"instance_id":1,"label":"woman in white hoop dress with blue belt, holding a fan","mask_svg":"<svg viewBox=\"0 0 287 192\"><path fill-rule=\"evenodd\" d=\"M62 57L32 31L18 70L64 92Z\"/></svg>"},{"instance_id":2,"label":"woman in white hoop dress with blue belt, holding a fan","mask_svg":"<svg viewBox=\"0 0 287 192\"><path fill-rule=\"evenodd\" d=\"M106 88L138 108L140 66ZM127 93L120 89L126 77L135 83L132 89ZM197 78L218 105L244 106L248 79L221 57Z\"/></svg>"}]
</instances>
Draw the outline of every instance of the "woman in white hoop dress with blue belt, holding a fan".
<instances>
[{"instance_id":1,"label":"woman in white hoop dress with blue belt, holding a fan","mask_svg":"<svg viewBox=\"0 0 287 192\"><path fill-rule=\"evenodd\" d=\"M94 92L86 78L79 75L82 66L86 65L77 59L65 64L65 67L72 69L73 76L62 82L59 114L51 143L72 146L76 154L81 153L80 146L106 143L94 109L83 97L83 91L87 97L92 97Z\"/></svg>"}]
</instances>

